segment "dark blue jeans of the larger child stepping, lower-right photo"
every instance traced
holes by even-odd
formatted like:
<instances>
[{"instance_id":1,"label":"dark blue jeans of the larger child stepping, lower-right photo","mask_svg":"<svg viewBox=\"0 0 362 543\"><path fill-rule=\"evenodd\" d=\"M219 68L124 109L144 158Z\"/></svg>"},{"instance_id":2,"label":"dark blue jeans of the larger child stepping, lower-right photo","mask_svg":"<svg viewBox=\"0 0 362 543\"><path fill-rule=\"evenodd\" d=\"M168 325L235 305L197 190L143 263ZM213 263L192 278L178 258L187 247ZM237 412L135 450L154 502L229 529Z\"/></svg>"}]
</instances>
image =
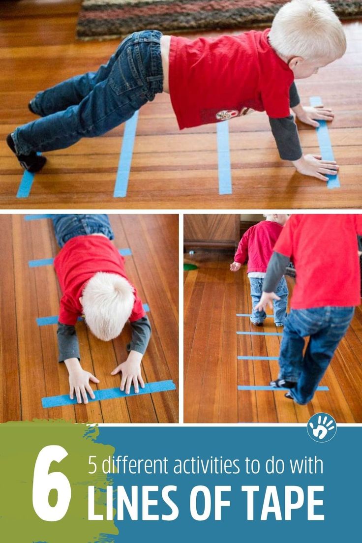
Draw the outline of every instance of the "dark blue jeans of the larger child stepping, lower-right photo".
<instances>
[{"instance_id":1,"label":"dark blue jeans of the larger child stepping, lower-right photo","mask_svg":"<svg viewBox=\"0 0 362 543\"><path fill-rule=\"evenodd\" d=\"M296 382L290 394L308 403L351 323L354 307L291 310L285 321L279 355L279 378ZM303 356L304 338L309 336Z\"/></svg>"}]
</instances>

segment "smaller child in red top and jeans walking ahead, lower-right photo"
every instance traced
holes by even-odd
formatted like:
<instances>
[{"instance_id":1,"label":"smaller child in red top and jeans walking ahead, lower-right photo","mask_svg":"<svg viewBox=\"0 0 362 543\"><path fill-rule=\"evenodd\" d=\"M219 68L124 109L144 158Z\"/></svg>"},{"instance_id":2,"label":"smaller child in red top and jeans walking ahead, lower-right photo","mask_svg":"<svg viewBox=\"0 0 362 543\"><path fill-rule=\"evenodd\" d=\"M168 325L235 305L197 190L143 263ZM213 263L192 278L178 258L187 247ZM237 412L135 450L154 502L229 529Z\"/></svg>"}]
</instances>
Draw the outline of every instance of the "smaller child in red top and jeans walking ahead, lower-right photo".
<instances>
[{"instance_id":1,"label":"smaller child in red top and jeans walking ahead, lower-right photo","mask_svg":"<svg viewBox=\"0 0 362 543\"><path fill-rule=\"evenodd\" d=\"M231 271L238 271L248 259L247 276L250 281L252 303L250 321L255 326L262 326L266 318L265 311L256 311L255 307L263 293L263 280L273 247L287 222L288 215L273 213L264 217L265 220L246 230L240 239L234 262L230 264ZM275 326L283 326L288 303L288 286L285 277L281 277L275 292L278 300L274 304L274 322Z\"/></svg>"}]
</instances>

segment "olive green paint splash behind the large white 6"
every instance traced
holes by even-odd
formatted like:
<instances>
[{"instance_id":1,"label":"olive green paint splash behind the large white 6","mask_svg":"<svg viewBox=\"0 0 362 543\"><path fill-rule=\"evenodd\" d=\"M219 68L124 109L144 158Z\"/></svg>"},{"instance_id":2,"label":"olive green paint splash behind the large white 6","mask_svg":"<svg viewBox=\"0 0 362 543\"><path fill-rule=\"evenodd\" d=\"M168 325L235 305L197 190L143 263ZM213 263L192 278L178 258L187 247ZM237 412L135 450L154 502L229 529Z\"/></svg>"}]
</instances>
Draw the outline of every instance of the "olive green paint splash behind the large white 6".
<instances>
[{"instance_id":1,"label":"olive green paint splash behind the large white 6","mask_svg":"<svg viewBox=\"0 0 362 543\"><path fill-rule=\"evenodd\" d=\"M96 426L64 421L7 422L0 425L0 534L4 541L21 543L114 543L118 534L113 521L88 520L88 485L94 485L95 513L105 517L105 489L112 484L103 473L90 475L90 456L107 458L115 453L110 445L96 442ZM43 447L61 445L68 456L50 464L49 472L60 471L71 483L72 498L60 521L40 519L33 509L33 473ZM56 491L49 494L54 505ZM117 538L118 539L118 538Z\"/></svg>"}]
</instances>

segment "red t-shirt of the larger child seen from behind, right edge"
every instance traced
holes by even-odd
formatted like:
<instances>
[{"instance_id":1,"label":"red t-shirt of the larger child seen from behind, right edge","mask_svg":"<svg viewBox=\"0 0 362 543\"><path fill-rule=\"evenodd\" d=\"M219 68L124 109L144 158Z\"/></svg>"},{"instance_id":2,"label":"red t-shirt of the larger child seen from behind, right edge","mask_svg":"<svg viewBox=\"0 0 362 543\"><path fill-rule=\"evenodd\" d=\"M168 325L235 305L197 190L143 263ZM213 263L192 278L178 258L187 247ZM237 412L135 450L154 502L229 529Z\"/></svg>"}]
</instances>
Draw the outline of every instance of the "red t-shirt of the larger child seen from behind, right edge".
<instances>
[{"instance_id":1,"label":"red t-shirt of the larger child seen from behind, right edge","mask_svg":"<svg viewBox=\"0 0 362 543\"><path fill-rule=\"evenodd\" d=\"M293 309L360 304L357 234L362 235L362 214L289 218L274 250L294 262Z\"/></svg>"}]
</instances>

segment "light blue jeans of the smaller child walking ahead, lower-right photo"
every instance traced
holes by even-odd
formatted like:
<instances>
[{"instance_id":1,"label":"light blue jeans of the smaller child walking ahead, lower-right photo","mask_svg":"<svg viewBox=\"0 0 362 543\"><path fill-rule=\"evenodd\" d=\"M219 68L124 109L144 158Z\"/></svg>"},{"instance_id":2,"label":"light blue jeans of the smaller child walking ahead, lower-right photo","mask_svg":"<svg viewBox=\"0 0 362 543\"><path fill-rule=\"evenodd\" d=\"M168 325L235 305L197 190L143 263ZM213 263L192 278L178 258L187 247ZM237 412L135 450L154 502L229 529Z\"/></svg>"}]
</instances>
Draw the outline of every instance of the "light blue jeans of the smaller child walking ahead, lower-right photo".
<instances>
[{"instance_id":1,"label":"light blue jeans of the smaller child walking ahead, lower-right photo","mask_svg":"<svg viewBox=\"0 0 362 543\"><path fill-rule=\"evenodd\" d=\"M252 313L250 320L252 323L262 323L266 318L265 311L255 311L255 306L259 303L262 294L263 294L263 281L264 279L259 277L249 277L250 281L250 294L252 302ZM287 303L288 303L288 286L285 277L278 282L275 294L280 297L280 300L274 300L274 322L275 324L282 325L284 324L285 315L287 314Z\"/></svg>"}]
</instances>

